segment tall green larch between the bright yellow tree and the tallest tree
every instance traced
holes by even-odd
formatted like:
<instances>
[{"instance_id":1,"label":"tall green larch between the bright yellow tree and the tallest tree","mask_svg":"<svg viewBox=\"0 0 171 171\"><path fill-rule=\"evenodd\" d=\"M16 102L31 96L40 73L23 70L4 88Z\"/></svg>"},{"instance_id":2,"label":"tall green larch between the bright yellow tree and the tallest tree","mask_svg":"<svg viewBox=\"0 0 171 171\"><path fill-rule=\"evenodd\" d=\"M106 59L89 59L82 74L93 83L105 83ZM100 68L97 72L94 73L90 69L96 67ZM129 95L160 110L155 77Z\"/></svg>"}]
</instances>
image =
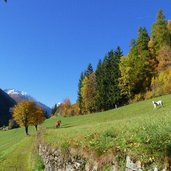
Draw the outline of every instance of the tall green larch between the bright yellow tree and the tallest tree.
<instances>
[{"instance_id":1,"label":"tall green larch between the bright yellow tree and the tallest tree","mask_svg":"<svg viewBox=\"0 0 171 171\"><path fill-rule=\"evenodd\" d=\"M133 58L136 58L136 66L134 67L137 72L136 91L135 93L144 93L150 88L151 79L156 74L155 69L157 66L156 59L150 54L148 49L148 42L150 37L146 28L140 27L138 29L138 38ZM130 52L131 53L131 52ZM130 54L131 55L131 54ZM135 73L135 71L133 71Z\"/></svg>"}]
</instances>

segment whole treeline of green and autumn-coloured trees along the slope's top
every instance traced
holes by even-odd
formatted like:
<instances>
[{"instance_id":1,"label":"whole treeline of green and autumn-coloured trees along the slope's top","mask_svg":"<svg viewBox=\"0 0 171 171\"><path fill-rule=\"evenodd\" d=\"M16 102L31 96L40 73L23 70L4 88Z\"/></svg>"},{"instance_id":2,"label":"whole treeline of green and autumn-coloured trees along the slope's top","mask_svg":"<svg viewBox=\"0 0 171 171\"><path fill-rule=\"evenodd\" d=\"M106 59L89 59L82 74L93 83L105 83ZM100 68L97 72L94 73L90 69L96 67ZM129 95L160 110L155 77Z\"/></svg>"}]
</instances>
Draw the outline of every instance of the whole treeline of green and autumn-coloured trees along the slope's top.
<instances>
[{"instance_id":1,"label":"whole treeline of green and autumn-coloured trees along the slope's top","mask_svg":"<svg viewBox=\"0 0 171 171\"><path fill-rule=\"evenodd\" d=\"M170 92L171 21L159 10L151 36L140 27L127 56L118 47L99 60L95 71L88 65L78 83L77 110L71 105L72 112L65 116L105 111Z\"/></svg>"}]
</instances>

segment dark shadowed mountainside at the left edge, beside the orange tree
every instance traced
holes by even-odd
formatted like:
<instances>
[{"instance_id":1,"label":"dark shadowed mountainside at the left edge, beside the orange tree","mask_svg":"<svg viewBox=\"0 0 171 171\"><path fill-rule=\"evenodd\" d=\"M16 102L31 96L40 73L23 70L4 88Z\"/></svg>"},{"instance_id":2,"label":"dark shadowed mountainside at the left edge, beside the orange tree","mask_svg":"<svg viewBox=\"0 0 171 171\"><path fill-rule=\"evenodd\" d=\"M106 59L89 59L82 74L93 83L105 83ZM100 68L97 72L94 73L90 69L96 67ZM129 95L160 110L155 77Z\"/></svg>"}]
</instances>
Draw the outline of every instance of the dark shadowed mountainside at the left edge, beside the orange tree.
<instances>
[{"instance_id":1,"label":"dark shadowed mountainside at the left edge, beside the orange tree","mask_svg":"<svg viewBox=\"0 0 171 171\"><path fill-rule=\"evenodd\" d=\"M10 109L15 105L15 100L0 89L0 127L8 125L9 120L12 119Z\"/></svg>"}]
</instances>

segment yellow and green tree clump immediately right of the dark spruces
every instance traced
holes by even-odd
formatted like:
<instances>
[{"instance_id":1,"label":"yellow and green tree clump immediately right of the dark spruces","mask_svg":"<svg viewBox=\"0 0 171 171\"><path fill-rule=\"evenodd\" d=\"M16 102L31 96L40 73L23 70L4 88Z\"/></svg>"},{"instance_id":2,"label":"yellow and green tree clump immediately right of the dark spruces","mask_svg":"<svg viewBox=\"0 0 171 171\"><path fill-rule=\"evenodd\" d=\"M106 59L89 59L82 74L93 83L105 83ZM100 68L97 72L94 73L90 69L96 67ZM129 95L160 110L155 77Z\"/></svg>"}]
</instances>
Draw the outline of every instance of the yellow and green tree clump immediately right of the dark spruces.
<instances>
[{"instance_id":1,"label":"yellow and green tree clump immediately right of the dark spruces","mask_svg":"<svg viewBox=\"0 0 171 171\"><path fill-rule=\"evenodd\" d=\"M137 100L142 100L143 94L150 89L151 79L155 75L157 61L148 49L149 40L147 30L140 27L137 40L131 42L128 56L121 59L119 85L121 92L127 95L129 100L137 95Z\"/></svg>"}]
</instances>

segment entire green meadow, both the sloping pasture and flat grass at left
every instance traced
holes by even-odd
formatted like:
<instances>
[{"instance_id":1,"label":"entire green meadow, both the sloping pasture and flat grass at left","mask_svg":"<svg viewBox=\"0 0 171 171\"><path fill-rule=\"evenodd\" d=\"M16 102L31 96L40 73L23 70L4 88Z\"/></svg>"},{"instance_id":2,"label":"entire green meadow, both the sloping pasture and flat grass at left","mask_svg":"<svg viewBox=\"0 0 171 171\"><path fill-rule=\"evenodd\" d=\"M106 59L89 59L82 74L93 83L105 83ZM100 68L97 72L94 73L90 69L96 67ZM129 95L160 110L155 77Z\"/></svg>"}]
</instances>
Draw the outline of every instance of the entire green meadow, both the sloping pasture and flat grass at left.
<instances>
[{"instance_id":1,"label":"entire green meadow, both the sloping pasture and flat grass at left","mask_svg":"<svg viewBox=\"0 0 171 171\"><path fill-rule=\"evenodd\" d=\"M157 109L153 109L152 100L146 100L96 114L54 116L41 125L44 142L75 149L92 160L103 157L102 163L110 162L112 154L122 165L130 155L144 165L167 167L171 159L171 95L154 100L160 99L164 107ZM62 124L55 128L58 119ZM25 136L23 128L0 131L0 170L41 170L36 166L36 131L30 127L29 132L30 136Z\"/></svg>"}]
</instances>

